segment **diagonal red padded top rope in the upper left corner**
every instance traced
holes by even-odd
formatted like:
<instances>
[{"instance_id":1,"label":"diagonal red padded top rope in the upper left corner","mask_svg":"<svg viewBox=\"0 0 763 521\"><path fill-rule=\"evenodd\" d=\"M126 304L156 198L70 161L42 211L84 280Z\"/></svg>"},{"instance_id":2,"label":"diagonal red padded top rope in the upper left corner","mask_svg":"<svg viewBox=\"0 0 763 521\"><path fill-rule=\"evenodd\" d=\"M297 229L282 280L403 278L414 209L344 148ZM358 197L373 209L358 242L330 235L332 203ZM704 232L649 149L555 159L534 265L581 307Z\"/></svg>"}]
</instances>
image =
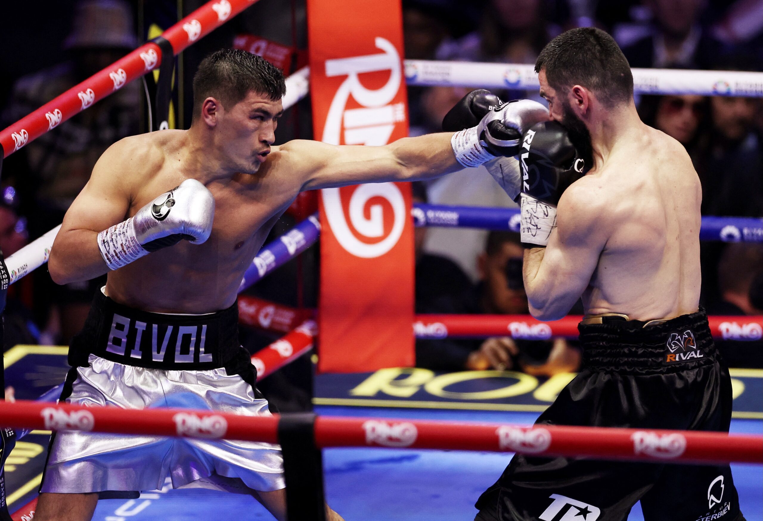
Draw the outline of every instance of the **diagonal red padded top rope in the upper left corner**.
<instances>
[{"instance_id":1,"label":"diagonal red padded top rope in the upper left corner","mask_svg":"<svg viewBox=\"0 0 763 521\"><path fill-rule=\"evenodd\" d=\"M162 36L169 40L173 52L177 54L254 2L257 0L211 0L164 31ZM0 131L4 157L13 154L25 144L34 141L115 90L121 89L125 84L156 69L160 63L161 50L158 45L149 42L138 47L121 60Z\"/></svg>"}]
</instances>

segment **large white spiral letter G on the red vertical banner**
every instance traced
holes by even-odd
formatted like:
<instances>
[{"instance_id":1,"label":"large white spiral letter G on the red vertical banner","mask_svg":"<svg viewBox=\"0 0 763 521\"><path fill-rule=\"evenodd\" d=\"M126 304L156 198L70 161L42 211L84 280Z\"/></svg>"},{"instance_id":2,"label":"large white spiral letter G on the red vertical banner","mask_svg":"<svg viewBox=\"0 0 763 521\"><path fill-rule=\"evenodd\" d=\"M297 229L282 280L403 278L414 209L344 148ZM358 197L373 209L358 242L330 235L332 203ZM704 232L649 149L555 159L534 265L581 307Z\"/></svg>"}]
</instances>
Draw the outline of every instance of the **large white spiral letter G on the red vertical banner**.
<instances>
[{"instance_id":1,"label":"large white spiral letter G on the red vertical banner","mask_svg":"<svg viewBox=\"0 0 763 521\"><path fill-rule=\"evenodd\" d=\"M364 259L381 257L398 244L398 240L403 234L405 227L405 200L403 194L394 183L374 183L359 185L353 195L349 198L349 223L347 222L342 199L338 188L327 188L321 190L321 197L324 199L324 209L326 218L331 226L331 230L336 236L336 240L350 254ZM373 204L369 208L369 218L365 217L365 205L372 197L381 197L386 199L392 207L392 229L385 237L384 209L379 204ZM367 243L359 240L349 224L368 239L378 239L381 241Z\"/></svg>"}]
</instances>

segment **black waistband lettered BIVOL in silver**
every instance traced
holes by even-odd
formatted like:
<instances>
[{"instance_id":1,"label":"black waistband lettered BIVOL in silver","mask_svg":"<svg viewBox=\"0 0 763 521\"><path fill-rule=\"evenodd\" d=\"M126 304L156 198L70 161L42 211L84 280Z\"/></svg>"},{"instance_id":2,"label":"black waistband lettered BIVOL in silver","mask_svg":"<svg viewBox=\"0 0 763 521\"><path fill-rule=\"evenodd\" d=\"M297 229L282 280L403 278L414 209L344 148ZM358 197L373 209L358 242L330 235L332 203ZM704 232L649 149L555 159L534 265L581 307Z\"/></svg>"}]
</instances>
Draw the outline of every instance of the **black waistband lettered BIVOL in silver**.
<instances>
[{"instance_id":1,"label":"black waistband lettered BIVOL in silver","mask_svg":"<svg viewBox=\"0 0 763 521\"><path fill-rule=\"evenodd\" d=\"M95 293L85 327L72 339L69 364L87 355L137 367L202 370L237 357L238 305L208 315L166 315L133 309Z\"/></svg>"}]
</instances>

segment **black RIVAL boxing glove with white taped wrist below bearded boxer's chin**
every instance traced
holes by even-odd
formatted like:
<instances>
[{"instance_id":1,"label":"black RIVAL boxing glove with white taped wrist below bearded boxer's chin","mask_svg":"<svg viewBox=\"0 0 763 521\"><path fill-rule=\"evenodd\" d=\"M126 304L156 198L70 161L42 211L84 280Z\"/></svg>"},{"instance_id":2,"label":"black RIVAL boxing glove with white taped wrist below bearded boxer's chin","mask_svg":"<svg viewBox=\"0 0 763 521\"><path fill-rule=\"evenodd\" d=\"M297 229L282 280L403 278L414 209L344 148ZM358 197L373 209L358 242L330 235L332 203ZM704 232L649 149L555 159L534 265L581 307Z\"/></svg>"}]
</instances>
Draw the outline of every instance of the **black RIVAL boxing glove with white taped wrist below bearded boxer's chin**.
<instances>
[{"instance_id":1,"label":"black RIVAL boxing glove with white taped wrist below bearded boxer's chin","mask_svg":"<svg viewBox=\"0 0 763 521\"><path fill-rule=\"evenodd\" d=\"M556 205L562 193L588 168L566 129L556 121L542 121L524 134L520 168L522 243L529 248L545 247L556 226Z\"/></svg>"}]
</instances>

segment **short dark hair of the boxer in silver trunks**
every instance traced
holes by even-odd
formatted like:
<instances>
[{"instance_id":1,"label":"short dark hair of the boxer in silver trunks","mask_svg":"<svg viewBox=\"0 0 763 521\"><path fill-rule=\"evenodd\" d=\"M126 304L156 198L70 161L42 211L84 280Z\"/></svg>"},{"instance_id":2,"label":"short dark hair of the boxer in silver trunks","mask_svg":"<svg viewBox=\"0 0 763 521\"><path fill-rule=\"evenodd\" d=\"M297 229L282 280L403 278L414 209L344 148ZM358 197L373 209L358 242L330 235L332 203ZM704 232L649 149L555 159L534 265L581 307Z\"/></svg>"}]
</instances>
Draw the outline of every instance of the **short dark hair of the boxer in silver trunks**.
<instances>
[{"instance_id":1,"label":"short dark hair of the boxer in silver trunks","mask_svg":"<svg viewBox=\"0 0 763 521\"><path fill-rule=\"evenodd\" d=\"M284 75L277 67L256 54L240 49L221 49L201 60L193 77L193 117L201 112L208 97L223 105L236 105L254 91L272 101L286 93Z\"/></svg>"}]
</instances>

